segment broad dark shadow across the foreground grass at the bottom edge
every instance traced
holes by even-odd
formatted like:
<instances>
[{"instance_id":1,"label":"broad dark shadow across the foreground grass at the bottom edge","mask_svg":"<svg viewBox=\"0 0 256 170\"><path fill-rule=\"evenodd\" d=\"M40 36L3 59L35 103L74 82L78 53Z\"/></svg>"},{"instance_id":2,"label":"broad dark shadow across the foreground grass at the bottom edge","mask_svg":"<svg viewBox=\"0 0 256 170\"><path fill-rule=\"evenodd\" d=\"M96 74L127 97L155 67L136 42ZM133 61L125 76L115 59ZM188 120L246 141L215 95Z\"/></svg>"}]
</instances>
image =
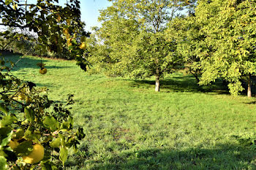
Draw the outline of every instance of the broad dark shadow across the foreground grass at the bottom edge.
<instances>
[{"instance_id":1,"label":"broad dark shadow across the foreground grass at the bottom edge","mask_svg":"<svg viewBox=\"0 0 256 170\"><path fill-rule=\"evenodd\" d=\"M212 150L138 150L116 155L105 162L89 163L94 164L92 169L256 169L255 157L255 150L219 145Z\"/></svg>"}]
</instances>

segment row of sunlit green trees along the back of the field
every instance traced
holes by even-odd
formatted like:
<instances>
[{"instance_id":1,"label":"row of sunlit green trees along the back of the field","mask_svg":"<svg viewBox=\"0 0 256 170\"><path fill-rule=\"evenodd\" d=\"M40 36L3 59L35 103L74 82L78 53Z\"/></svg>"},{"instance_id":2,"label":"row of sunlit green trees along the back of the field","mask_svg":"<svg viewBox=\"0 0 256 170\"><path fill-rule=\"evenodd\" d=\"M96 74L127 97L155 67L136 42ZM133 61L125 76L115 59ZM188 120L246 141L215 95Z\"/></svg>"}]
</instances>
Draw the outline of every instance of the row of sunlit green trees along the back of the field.
<instances>
[{"instance_id":1,"label":"row of sunlit green trees along the back of the field","mask_svg":"<svg viewBox=\"0 0 256 170\"><path fill-rule=\"evenodd\" d=\"M255 74L255 0L112 0L89 41L108 75L160 78L187 68L199 85L222 78L233 95ZM94 38L94 39L93 39Z\"/></svg>"}]
</instances>

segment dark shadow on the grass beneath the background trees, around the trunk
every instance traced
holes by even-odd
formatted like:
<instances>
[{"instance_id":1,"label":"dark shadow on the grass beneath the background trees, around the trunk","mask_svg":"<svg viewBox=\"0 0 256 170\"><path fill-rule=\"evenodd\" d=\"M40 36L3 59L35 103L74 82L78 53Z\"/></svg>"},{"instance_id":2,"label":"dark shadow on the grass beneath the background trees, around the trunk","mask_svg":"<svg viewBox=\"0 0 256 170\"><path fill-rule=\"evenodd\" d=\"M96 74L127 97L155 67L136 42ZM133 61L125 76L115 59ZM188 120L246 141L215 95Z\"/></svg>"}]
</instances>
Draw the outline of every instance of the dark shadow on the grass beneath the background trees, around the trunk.
<instances>
[{"instance_id":1,"label":"dark shadow on the grass beneath the background trees, around the trunk","mask_svg":"<svg viewBox=\"0 0 256 170\"><path fill-rule=\"evenodd\" d=\"M141 87L145 88L151 85L154 85L154 80L134 80L130 84L131 87ZM217 80L211 85L197 85L197 82L194 77L187 76L173 76L168 77L164 80L160 81L160 91L164 92L193 92L193 93L206 93L206 92L214 92L218 94L228 94L227 86L222 85L222 80Z\"/></svg>"}]
</instances>

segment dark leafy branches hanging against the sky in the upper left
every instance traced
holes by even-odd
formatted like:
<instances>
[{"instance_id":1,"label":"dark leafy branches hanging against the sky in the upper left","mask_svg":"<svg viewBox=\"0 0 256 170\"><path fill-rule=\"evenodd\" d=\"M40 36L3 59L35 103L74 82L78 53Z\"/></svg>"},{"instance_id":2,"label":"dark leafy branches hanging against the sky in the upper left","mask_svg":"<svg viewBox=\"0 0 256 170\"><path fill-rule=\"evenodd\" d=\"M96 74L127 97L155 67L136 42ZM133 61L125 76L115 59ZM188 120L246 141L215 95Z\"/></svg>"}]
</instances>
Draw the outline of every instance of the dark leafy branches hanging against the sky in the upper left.
<instances>
[{"instance_id":1,"label":"dark leafy branches hanging against the sky in the upper left","mask_svg":"<svg viewBox=\"0 0 256 170\"><path fill-rule=\"evenodd\" d=\"M84 26L80 20L80 1L67 1L64 7L56 2L49 0L26 4L26 1L0 1L0 25L23 31L23 34L18 34L19 42L15 44L20 49L15 52L27 54L30 51L36 55L75 59L80 68L86 70L86 53L78 47L80 40L77 39L83 34ZM28 30L33 34L28 34ZM7 32L3 32L2 36L4 39L9 37ZM69 38L73 39L74 45L67 43Z\"/></svg>"}]
</instances>

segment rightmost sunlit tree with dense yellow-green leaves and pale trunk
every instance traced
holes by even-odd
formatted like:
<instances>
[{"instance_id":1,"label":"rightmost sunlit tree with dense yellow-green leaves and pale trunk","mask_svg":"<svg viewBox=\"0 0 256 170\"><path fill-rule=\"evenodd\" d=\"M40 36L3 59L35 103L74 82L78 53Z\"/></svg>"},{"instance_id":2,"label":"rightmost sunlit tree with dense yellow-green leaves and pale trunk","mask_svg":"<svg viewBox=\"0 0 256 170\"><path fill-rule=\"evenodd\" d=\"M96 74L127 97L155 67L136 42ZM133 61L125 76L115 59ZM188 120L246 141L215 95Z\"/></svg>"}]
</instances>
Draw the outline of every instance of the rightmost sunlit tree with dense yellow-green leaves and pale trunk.
<instances>
[{"instance_id":1,"label":"rightmost sunlit tree with dense yellow-green leaves and pale trunk","mask_svg":"<svg viewBox=\"0 0 256 170\"><path fill-rule=\"evenodd\" d=\"M192 45L200 61L200 85L222 77L229 82L230 93L243 90L241 80L248 82L251 96L251 76L255 74L256 1L198 1L195 17L187 20L197 27L200 39L194 41L193 28L187 27L184 44ZM194 29L195 30L195 29Z\"/></svg>"}]
</instances>

